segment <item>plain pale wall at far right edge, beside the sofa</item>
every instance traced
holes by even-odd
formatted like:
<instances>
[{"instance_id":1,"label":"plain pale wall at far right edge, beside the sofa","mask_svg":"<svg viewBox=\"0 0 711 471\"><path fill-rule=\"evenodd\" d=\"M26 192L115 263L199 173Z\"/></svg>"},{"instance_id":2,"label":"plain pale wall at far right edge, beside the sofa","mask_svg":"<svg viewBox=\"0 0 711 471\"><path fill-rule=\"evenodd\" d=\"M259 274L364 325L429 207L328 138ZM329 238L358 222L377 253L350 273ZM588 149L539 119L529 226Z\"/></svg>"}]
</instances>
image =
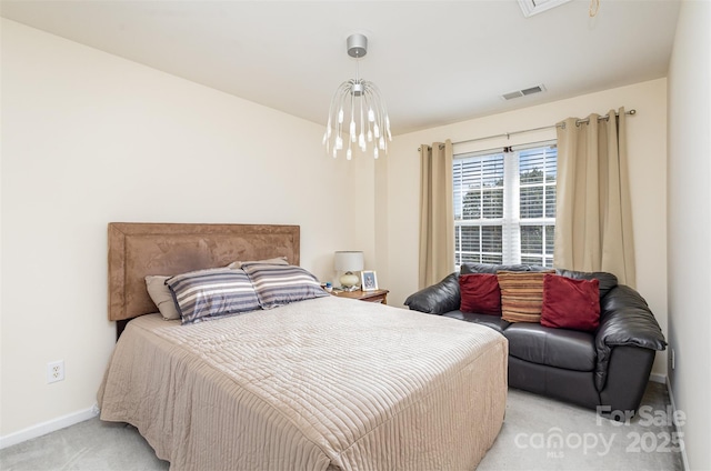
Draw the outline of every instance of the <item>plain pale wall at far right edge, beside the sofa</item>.
<instances>
[{"instance_id":1,"label":"plain pale wall at far right edge, beside the sofa","mask_svg":"<svg viewBox=\"0 0 711 471\"><path fill-rule=\"evenodd\" d=\"M681 4L669 69L669 370L688 469L711 469L711 2Z\"/></svg>"}]
</instances>

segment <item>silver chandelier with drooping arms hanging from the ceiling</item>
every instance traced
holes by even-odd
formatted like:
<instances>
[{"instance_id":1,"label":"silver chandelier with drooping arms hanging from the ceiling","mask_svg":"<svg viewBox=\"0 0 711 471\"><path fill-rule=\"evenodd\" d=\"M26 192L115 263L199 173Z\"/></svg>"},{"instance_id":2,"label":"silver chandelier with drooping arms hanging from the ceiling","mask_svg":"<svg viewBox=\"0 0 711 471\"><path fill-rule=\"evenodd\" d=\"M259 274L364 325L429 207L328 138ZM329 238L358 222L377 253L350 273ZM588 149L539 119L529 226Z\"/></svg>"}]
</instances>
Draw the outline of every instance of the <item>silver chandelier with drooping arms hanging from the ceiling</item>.
<instances>
[{"instance_id":1,"label":"silver chandelier with drooping arms hanging from the ceiling","mask_svg":"<svg viewBox=\"0 0 711 471\"><path fill-rule=\"evenodd\" d=\"M363 34L349 36L346 46L352 58L360 59L368 53L368 38ZM346 148L346 158L351 160L353 147L362 152L371 147L378 159L381 151L388 153L391 140L390 119L380 90L373 82L359 77L357 61L356 78L341 83L331 99L323 134L326 152L337 158Z\"/></svg>"}]
</instances>

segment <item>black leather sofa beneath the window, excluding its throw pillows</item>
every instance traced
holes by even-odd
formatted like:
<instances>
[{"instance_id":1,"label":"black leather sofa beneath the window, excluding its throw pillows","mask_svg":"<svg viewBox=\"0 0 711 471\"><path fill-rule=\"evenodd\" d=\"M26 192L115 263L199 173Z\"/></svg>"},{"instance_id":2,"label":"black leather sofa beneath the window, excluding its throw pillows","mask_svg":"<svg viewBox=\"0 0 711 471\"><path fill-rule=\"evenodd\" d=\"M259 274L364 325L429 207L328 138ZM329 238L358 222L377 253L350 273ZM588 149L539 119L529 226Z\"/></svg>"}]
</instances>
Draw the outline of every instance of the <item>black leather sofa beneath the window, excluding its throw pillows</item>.
<instances>
[{"instance_id":1,"label":"black leather sofa beneath the window, excluding its throw pillows","mask_svg":"<svg viewBox=\"0 0 711 471\"><path fill-rule=\"evenodd\" d=\"M550 270L535 265L463 264L461 274ZM604 272L557 270L600 282L600 327L594 332L509 323L500 317L460 311L459 272L405 300L411 310L475 322L509 340L509 385L595 409L625 420L635 413L649 381L657 350L667 343L644 299Z\"/></svg>"}]
</instances>

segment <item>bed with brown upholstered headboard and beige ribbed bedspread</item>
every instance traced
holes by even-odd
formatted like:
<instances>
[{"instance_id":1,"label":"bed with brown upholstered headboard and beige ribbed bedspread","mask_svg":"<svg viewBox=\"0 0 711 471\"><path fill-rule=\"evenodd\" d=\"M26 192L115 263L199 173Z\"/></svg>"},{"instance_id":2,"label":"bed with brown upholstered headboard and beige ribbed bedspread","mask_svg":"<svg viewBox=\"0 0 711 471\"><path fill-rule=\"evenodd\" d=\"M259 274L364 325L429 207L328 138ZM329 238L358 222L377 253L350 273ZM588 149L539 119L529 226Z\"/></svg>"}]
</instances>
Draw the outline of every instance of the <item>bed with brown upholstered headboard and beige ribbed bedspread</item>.
<instances>
[{"instance_id":1,"label":"bed with brown upholstered headboard and beige ribbed bedspread","mask_svg":"<svg viewBox=\"0 0 711 471\"><path fill-rule=\"evenodd\" d=\"M473 470L507 395L492 329L323 295L181 324L144 277L286 257L296 226L109 224L109 319L126 323L101 419L172 470Z\"/></svg>"}]
</instances>

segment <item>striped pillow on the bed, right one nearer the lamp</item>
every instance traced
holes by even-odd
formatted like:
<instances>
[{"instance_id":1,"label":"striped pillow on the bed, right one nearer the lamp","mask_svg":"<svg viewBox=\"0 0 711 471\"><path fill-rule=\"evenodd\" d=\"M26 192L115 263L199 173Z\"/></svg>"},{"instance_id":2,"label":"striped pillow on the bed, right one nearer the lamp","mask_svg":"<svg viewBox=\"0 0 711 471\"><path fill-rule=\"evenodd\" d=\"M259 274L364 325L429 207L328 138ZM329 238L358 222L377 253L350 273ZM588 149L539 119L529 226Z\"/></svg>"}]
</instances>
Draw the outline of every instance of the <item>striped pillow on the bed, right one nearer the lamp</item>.
<instances>
[{"instance_id":1,"label":"striped pillow on the bed, right one nearer the lamp","mask_svg":"<svg viewBox=\"0 0 711 471\"><path fill-rule=\"evenodd\" d=\"M243 270L254 285L262 309L330 295L319 280L301 267L249 264Z\"/></svg>"}]
</instances>

